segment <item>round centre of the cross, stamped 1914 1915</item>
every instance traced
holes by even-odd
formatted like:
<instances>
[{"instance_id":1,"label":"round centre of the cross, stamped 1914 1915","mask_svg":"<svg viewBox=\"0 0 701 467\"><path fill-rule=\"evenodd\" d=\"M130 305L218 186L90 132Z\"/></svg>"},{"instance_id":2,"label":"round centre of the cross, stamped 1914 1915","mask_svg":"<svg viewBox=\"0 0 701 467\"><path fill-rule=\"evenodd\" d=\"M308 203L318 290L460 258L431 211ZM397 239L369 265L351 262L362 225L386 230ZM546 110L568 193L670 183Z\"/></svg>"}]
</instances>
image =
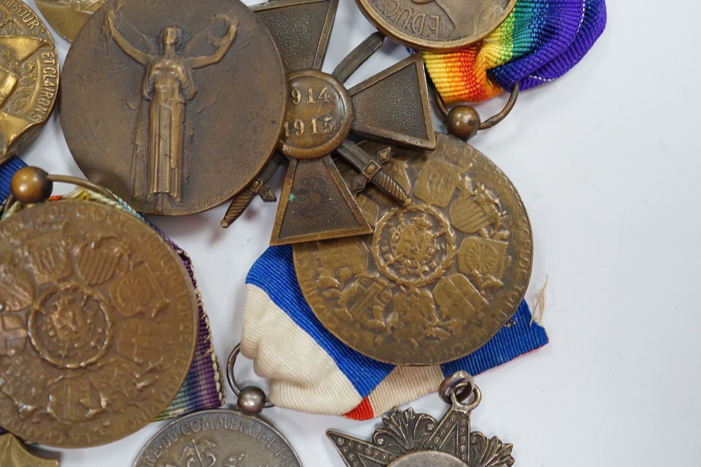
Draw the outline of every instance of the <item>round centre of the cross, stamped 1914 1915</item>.
<instances>
[{"instance_id":1,"label":"round centre of the cross, stamped 1914 1915","mask_svg":"<svg viewBox=\"0 0 701 467\"><path fill-rule=\"evenodd\" d=\"M287 118L280 152L296 159L315 159L341 146L351 131L353 104L346 88L318 70L292 71Z\"/></svg>"}]
</instances>

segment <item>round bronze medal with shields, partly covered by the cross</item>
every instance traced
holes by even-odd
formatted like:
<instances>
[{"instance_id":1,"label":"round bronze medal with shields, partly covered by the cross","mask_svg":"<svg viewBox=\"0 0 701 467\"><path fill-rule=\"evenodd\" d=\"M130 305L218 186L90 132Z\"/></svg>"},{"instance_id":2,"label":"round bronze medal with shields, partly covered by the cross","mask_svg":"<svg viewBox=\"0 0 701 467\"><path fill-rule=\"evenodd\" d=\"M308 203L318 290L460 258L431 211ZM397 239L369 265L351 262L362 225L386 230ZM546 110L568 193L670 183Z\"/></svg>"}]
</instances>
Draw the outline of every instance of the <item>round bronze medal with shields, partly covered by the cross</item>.
<instances>
[{"instance_id":1,"label":"round bronze medal with shields, partly covered by the cross","mask_svg":"<svg viewBox=\"0 0 701 467\"><path fill-rule=\"evenodd\" d=\"M396 365L479 349L511 319L531 277L531 223L516 188L472 146L436 137L435 151L395 148L383 167L411 204L398 207L374 186L356 197L372 235L294 244L318 319L353 349ZM336 163L347 181L358 175Z\"/></svg>"}]
</instances>

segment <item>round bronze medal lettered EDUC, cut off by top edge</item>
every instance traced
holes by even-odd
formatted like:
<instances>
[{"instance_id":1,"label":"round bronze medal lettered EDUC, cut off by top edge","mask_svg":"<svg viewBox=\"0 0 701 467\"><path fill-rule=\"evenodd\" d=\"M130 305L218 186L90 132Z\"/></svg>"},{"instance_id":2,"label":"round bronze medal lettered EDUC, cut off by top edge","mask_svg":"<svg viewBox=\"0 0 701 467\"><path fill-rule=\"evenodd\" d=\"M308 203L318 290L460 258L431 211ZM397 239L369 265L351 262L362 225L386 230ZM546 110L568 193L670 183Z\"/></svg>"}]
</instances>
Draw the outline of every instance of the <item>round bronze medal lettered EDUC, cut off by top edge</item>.
<instances>
[{"instance_id":1,"label":"round bronze medal lettered EDUC, cut off by top edge","mask_svg":"<svg viewBox=\"0 0 701 467\"><path fill-rule=\"evenodd\" d=\"M383 34L407 47L448 52L494 31L516 0L355 0Z\"/></svg>"}]
</instances>

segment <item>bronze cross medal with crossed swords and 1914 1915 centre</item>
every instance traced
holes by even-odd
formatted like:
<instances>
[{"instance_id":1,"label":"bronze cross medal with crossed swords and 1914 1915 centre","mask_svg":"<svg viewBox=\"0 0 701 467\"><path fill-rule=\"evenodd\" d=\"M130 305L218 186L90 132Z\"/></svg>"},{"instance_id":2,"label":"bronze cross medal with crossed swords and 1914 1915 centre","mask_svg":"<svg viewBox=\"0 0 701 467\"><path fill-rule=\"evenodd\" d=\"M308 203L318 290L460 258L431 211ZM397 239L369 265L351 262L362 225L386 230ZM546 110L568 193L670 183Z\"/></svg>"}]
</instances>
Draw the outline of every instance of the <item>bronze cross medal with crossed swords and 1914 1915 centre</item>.
<instances>
[{"instance_id":1,"label":"bronze cross medal with crossed swords and 1914 1915 centre","mask_svg":"<svg viewBox=\"0 0 701 467\"><path fill-rule=\"evenodd\" d=\"M376 32L348 54L332 74L320 71L337 6L338 0L273 0L251 7L278 44L289 87L278 149L290 158L290 167L271 245L371 233L353 196L368 181L397 202L410 202L400 184L382 169L391 158L390 148L368 154L346 140L350 132L404 146L435 148L421 54L347 90L343 82L381 46L384 37ZM361 172L352 187L341 178L332 153ZM234 198L222 226L228 227L236 220L256 194L264 201L275 200L264 183L281 159L275 155L271 166Z\"/></svg>"}]
</instances>

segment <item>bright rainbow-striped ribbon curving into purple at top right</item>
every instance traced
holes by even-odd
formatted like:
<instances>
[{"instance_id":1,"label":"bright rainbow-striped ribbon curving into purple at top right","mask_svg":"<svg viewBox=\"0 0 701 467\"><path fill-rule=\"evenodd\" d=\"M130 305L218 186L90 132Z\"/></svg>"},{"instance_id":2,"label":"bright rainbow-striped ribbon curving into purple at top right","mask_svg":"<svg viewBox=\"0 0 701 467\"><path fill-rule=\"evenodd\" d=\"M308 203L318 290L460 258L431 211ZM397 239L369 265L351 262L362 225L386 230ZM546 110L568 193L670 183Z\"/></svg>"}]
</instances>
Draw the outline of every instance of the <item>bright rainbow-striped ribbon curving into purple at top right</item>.
<instances>
[{"instance_id":1,"label":"bright rainbow-striped ribbon curving into purple at top right","mask_svg":"<svg viewBox=\"0 0 701 467\"><path fill-rule=\"evenodd\" d=\"M606 26L604 0L518 0L482 41L449 53L424 52L446 104L478 102L559 78L589 51Z\"/></svg>"}]
</instances>

